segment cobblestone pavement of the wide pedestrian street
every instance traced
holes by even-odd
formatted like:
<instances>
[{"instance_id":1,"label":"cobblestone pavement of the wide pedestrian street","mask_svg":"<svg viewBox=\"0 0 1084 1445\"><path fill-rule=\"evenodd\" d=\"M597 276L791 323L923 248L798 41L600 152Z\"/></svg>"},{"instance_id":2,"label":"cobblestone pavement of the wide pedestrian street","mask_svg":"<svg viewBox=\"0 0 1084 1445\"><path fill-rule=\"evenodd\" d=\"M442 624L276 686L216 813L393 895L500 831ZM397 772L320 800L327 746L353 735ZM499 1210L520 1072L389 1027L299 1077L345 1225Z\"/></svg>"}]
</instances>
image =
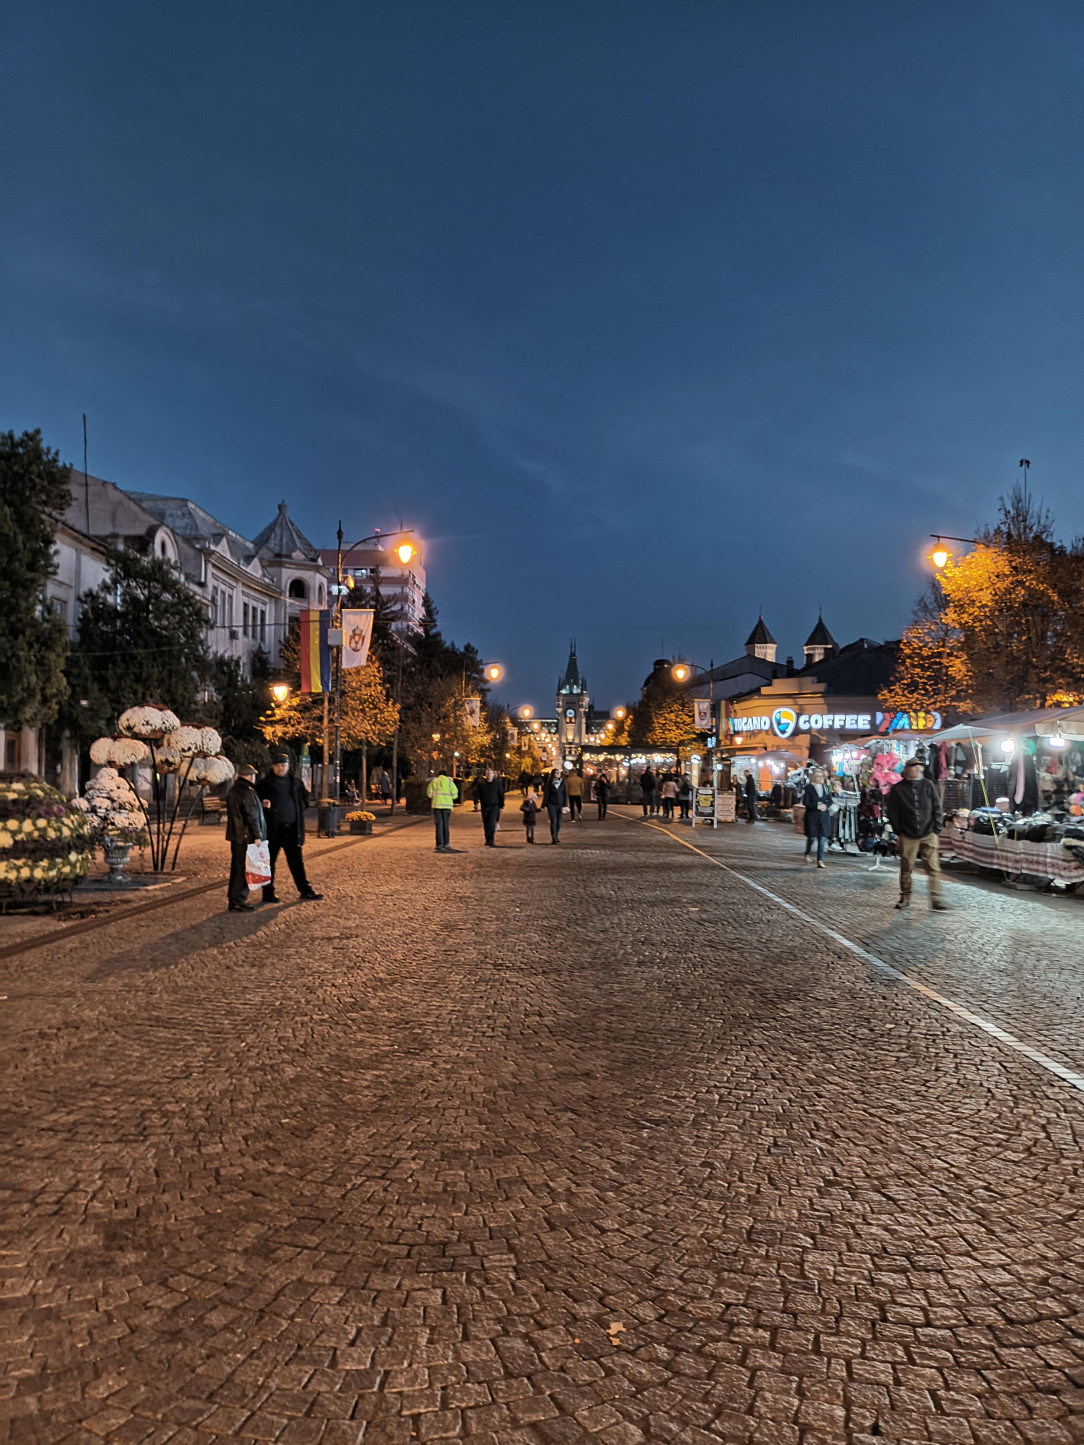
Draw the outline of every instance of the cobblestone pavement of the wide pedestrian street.
<instances>
[{"instance_id":1,"label":"cobblestone pavement of the wide pedestrian street","mask_svg":"<svg viewBox=\"0 0 1084 1445\"><path fill-rule=\"evenodd\" d=\"M743 877L1067 1062L1078 909L562 837L0 964L7 1438L1084 1441L1084 1095Z\"/></svg>"}]
</instances>

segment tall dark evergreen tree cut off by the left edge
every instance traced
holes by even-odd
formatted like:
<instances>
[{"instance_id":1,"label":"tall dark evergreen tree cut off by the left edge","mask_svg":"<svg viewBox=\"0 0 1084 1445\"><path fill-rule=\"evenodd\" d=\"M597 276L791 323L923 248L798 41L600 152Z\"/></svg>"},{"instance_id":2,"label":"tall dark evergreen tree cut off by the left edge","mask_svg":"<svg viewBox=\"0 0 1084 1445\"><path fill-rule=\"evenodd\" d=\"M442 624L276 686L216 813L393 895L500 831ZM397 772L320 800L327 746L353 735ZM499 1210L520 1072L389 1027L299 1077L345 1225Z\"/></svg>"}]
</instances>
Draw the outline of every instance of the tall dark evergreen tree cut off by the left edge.
<instances>
[{"instance_id":1,"label":"tall dark evergreen tree cut off by the left edge","mask_svg":"<svg viewBox=\"0 0 1084 1445\"><path fill-rule=\"evenodd\" d=\"M65 696L64 618L45 603L56 571L56 517L71 503L66 468L39 431L0 432L0 724L42 727Z\"/></svg>"}]
</instances>

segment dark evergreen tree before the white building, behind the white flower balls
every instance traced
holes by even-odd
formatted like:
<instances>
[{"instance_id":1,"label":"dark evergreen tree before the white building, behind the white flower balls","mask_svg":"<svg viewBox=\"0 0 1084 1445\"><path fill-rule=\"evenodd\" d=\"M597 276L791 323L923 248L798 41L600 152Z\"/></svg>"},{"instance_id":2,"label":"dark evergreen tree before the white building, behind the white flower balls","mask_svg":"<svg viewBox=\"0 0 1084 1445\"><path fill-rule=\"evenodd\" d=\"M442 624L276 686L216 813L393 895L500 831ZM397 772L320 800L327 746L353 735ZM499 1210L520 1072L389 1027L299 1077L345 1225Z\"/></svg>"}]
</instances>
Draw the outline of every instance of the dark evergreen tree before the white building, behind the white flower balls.
<instances>
[{"instance_id":1,"label":"dark evergreen tree before the white building, behind the white flower balls","mask_svg":"<svg viewBox=\"0 0 1084 1445\"><path fill-rule=\"evenodd\" d=\"M114 552L106 581L82 598L68 662L69 725L111 733L142 702L184 721L208 678L205 637L207 611L168 562Z\"/></svg>"}]
</instances>

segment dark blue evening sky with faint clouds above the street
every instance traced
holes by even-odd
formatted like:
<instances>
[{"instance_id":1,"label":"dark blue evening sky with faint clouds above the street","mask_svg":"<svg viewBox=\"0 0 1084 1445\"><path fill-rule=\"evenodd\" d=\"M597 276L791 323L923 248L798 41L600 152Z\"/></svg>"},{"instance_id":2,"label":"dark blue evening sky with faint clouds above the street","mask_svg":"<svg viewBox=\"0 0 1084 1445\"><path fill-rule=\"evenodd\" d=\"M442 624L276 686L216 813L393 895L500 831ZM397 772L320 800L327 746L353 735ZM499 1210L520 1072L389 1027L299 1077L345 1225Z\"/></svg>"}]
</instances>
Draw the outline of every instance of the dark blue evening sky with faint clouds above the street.
<instances>
[{"instance_id":1,"label":"dark blue evening sky with faint clouds above the street","mask_svg":"<svg viewBox=\"0 0 1084 1445\"><path fill-rule=\"evenodd\" d=\"M19 13L19 10L22 13ZM38 0L0 426L318 543L399 520L546 707L898 636L925 535L1081 488L1065 3Z\"/></svg>"}]
</instances>

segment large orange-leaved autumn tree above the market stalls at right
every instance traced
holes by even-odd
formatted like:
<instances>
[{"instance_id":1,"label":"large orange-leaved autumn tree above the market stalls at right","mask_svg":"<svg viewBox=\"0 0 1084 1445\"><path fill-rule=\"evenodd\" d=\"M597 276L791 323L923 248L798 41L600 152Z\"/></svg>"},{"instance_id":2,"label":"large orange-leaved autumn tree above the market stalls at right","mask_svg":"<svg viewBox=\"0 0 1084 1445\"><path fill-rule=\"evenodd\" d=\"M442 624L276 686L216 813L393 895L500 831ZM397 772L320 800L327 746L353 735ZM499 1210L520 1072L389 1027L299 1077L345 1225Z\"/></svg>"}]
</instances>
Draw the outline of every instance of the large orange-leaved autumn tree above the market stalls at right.
<instances>
[{"instance_id":1,"label":"large orange-leaved autumn tree above the market stalls at right","mask_svg":"<svg viewBox=\"0 0 1084 1445\"><path fill-rule=\"evenodd\" d=\"M882 701L974 714L1081 698L1084 546L1058 542L1049 513L1016 487L976 548L931 581Z\"/></svg>"}]
</instances>

